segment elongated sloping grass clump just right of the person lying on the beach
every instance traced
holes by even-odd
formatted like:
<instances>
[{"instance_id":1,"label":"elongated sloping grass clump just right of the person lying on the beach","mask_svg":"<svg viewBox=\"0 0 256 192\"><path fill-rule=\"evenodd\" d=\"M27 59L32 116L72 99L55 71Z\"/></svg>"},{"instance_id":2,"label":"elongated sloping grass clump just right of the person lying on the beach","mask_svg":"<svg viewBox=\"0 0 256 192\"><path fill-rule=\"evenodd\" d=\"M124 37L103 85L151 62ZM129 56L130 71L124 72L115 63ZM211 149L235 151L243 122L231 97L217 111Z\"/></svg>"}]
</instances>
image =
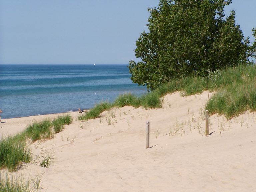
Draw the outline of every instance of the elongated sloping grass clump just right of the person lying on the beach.
<instances>
[{"instance_id":1,"label":"elongated sloping grass clump just right of the person lying on the beach","mask_svg":"<svg viewBox=\"0 0 256 192\"><path fill-rule=\"evenodd\" d=\"M89 119L95 119L100 117L100 113L103 111L107 111L111 109L114 105L110 102L101 102L99 104L95 104L94 108L88 111L85 114L78 115L78 120L88 121Z\"/></svg>"}]
</instances>

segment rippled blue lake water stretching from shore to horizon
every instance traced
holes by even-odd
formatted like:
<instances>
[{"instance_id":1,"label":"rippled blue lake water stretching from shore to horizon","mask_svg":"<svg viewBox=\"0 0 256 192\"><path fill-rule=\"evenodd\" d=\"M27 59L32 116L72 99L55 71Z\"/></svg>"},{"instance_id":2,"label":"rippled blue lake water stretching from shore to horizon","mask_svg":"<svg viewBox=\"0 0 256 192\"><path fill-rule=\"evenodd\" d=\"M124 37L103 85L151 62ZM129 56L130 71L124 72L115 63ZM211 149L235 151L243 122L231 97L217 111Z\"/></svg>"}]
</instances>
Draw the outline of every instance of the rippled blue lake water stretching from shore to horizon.
<instances>
[{"instance_id":1,"label":"rippled blue lake water stretching from shore to horizon","mask_svg":"<svg viewBox=\"0 0 256 192\"><path fill-rule=\"evenodd\" d=\"M142 95L127 65L0 65L0 109L5 118L89 109L123 93Z\"/></svg>"}]
</instances>

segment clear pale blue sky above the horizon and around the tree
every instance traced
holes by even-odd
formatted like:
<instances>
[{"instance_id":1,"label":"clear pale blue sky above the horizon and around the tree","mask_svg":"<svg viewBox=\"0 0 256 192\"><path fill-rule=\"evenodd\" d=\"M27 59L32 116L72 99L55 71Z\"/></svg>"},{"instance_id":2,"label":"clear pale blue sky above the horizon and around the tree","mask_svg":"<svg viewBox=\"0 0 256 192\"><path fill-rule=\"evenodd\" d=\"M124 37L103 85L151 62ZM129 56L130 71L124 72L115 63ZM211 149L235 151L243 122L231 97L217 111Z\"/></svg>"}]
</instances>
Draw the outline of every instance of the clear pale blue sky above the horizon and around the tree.
<instances>
[{"instance_id":1,"label":"clear pale blue sky above the horizon and around the tree","mask_svg":"<svg viewBox=\"0 0 256 192\"><path fill-rule=\"evenodd\" d=\"M0 64L128 64L159 0L0 0ZM256 0L233 0L244 36Z\"/></svg>"}]
</instances>

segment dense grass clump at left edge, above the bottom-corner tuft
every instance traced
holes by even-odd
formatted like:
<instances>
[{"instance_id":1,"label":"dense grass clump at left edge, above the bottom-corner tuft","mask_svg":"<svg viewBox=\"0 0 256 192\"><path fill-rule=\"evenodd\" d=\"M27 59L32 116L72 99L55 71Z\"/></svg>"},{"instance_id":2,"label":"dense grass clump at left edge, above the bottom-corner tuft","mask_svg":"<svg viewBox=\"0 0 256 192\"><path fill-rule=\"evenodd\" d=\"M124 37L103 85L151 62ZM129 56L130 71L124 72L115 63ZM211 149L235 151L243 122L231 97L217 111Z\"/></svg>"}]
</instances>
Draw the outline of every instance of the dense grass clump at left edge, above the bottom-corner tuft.
<instances>
[{"instance_id":1,"label":"dense grass clump at left edge, above the bottom-corner tuft","mask_svg":"<svg viewBox=\"0 0 256 192\"><path fill-rule=\"evenodd\" d=\"M31 150L26 147L25 140L17 142L16 139L8 137L0 140L0 169L13 171L20 163L31 161Z\"/></svg>"}]
</instances>

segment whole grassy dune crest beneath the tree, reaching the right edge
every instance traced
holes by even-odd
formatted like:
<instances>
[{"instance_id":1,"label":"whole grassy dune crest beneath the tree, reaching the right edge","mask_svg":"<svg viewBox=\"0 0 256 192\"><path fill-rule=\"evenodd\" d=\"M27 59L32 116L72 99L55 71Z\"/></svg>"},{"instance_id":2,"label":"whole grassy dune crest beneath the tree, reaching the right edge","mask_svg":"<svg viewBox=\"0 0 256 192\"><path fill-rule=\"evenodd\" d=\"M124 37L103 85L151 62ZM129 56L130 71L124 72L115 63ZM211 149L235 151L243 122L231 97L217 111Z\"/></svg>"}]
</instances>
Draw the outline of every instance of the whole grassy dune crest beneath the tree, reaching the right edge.
<instances>
[{"instance_id":1,"label":"whole grassy dune crest beneath the tree, reaching the right edge","mask_svg":"<svg viewBox=\"0 0 256 192\"><path fill-rule=\"evenodd\" d=\"M158 88L159 96L180 91L183 96L215 92L205 105L210 115L218 113L228 119L244 113L256 111L256 66L237 66L210 71L208 77L186 77Z\"/></svg>"}]
</instances>

